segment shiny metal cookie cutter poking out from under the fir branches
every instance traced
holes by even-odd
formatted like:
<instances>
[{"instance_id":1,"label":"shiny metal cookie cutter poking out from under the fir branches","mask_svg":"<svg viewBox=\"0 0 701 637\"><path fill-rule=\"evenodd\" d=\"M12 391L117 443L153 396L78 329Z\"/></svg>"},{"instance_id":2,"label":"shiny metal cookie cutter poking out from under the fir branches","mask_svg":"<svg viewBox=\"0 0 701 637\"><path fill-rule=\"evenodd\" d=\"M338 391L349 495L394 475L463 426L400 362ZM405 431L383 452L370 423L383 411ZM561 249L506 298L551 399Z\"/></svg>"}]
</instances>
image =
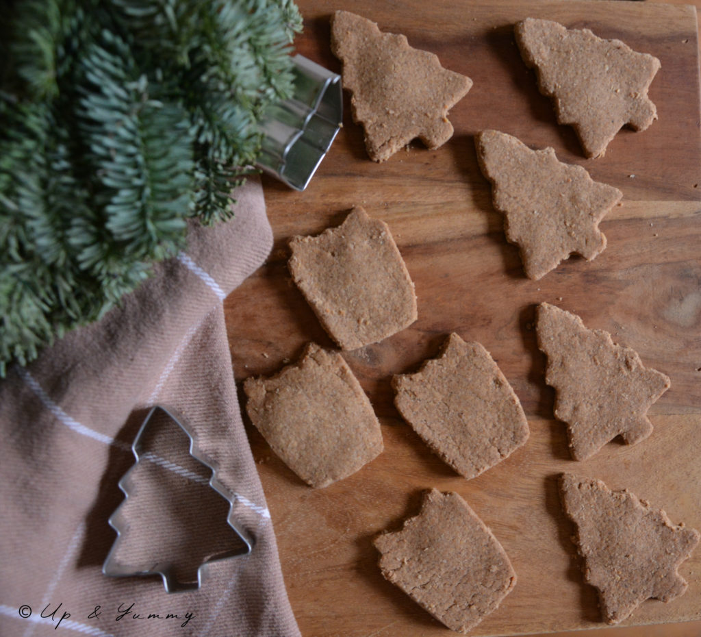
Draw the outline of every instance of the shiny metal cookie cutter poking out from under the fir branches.
<instances>
[{"instance_id":1,"label":"shiny metal cookie cutter poking out from under the fir branches","mask_svg":"<svg viewBox=\"0 0 701 637\"><path fill-rule=\"evenodd\" d=\"M304 190L331 147L343 119L341 76L295 55L294 96L269 107L258 166Z\"/></svg>"}]
</instances>

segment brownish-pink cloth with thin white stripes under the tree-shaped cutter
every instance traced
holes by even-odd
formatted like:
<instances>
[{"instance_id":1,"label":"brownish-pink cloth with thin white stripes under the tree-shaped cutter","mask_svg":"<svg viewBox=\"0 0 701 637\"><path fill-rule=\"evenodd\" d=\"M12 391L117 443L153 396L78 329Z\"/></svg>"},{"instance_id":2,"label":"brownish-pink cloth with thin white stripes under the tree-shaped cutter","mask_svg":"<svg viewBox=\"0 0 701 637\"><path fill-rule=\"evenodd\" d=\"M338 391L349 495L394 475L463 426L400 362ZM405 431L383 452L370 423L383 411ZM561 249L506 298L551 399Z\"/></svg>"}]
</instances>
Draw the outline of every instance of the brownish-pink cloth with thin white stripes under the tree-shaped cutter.
<instances>
[{"instance_id":1,"label":"brownish-pink cloth with thin white stripes under the tree-shaped cutter","mask_svg":"<svg viewBox=\"0 0 701 637\"><path fill-rule=\"evenodd\" d=\"M0 382L0 635L294 637L270 514L240 416L224 324L226 295L267 257L259 180L233 220L191 224L186 253L101 321ZM229 502L207 485L177 425L159 424L135 467L152 405L181 415L218 466L250 554L214 561L199 589L168 594L157 575L108 577L123 504L121 563L168 561L182 582L240 548ZM125 501L118 481L134 467Z\"/></svg>"}]
</instances>

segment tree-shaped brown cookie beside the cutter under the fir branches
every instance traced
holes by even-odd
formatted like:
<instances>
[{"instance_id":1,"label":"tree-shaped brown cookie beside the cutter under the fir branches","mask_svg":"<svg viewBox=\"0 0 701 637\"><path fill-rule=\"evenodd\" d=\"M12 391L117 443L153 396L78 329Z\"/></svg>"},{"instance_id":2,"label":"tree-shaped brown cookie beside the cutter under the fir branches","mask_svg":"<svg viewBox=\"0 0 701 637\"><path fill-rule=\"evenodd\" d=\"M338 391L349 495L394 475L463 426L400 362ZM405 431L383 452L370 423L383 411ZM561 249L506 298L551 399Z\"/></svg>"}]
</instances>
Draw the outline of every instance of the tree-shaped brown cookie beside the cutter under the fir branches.
<instances>
[{"instance_id":1,"label":"tree-shaped brown cookie beside the cutter under the fir branches","mask_svg":"<svg viewBox=\"0 0 701 637\"><path fill-rule=\"evenodd\" d=\"M353 121L365 128L371 159L385 161L414 138L430 149L451 138L447 113L470 90L470 78L348 11L334 14L331 48L343 62L343 88L352 93Z\"/></svg>"}]
</instances>

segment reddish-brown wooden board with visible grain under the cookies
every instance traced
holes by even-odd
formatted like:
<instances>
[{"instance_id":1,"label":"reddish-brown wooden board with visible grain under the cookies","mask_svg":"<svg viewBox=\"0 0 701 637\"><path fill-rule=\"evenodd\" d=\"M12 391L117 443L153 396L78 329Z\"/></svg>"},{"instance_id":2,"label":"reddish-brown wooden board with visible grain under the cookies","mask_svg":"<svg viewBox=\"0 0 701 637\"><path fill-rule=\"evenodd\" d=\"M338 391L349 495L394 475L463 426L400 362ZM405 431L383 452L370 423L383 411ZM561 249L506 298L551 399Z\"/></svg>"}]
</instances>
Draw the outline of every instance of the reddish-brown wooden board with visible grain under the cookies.
<instances>
[{"instance_id":1,"label":"reddish-brown wooden board with visible grain under the cookies","mask_svg":"<svg viewBox=\"0 0 701 637\"><path fill-rule=\"evenodd\" d=\"M449 634L376 566L372 538L418 511L421 491L460 493L503 544L518 583L475 635L601 628L597 594L583 583L560 510L556 476L574 471L629 488L674 522L701 529L701 136L695 9L639 2L301 0L297 51L340 72L329 51L329 16L345 8L383 31L436 53L474 81L449 114L454 137L429 151L419 142L376 164L362 129L344 127L304 193L264 177L275 246L266 264L226 300L238 381L294 361L308 341L333 347L287 272L287 240L316 234L359 204L386 221L418 296L418 321L401 333L344 353L381 419L385 451L357 474L313 490L247 424L290 601L305 637ZM659 120L624 130L606 156L586 160L550 100L536 90L512 36L515 21L550 18L589 27L653 53L662 68L651 99ZM540 281L526 279L518 250L477 167L473 135L496 128L533 147L552 146L594 180L622 190L622 206L601 223L608 247L593 262L572 257ZM614 442L591 460L569 457L554 420L545 358L536 347L534 307L547 301L636 349L672 389L651 408L655 431L634 447ZM390 377L416 370L455 331L491 351L519 396L531 438L482 476L465 481L433 455L393 407ZM242 403L245 397L242 395ZM647 601L628 624L701 619L701 549L681 567L686 594Z\"/></svg>"}]
</instances>

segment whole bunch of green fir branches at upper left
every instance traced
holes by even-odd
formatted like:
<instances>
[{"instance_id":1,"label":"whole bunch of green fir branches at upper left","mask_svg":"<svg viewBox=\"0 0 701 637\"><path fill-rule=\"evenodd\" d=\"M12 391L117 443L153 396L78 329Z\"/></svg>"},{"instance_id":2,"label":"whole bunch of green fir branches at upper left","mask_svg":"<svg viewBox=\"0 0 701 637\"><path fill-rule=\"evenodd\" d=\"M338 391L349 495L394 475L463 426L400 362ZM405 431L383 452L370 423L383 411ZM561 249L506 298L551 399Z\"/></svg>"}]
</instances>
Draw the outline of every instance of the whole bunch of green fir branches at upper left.
<instances>
[{"instance_id":1,"label":"whole bunch of green fir branches at upper left","mask_svg":"<svg viewBox=\"0 0 701 637\"><path fill-rule=\"evenodd\" d=\"M0 69L0 375L231 215L292 91L290 0L15 0Z\"/></svg>"}]
</instances>

